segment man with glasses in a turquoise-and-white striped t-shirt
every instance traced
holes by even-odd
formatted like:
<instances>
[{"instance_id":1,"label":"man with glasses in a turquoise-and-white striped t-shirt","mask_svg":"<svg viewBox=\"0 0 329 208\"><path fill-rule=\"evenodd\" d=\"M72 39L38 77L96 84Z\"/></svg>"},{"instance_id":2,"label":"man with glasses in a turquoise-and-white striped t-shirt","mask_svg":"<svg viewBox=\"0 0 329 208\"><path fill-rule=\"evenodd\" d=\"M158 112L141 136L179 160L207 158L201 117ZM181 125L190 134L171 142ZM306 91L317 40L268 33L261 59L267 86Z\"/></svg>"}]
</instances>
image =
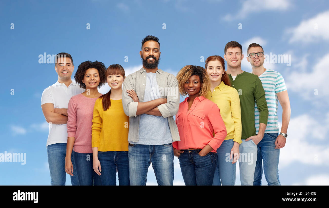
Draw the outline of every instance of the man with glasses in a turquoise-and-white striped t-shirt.
<instances>
[{"instance_id":1,"label":"man with glasses in a turquoise-and-white striped t-shirt","mask_svg":"<svg viewBox=\"0 0 329 208\"><path fill-rule=\"evenodd\" d=\"M263 83L267 108L269 110L267 126L263 139L257 144L258 155L254 175L254 185L262 184L263 165L264 174L268 185L281 185L279 180L279 155L280 148L284 147L287 138L287 129L290 120L290 101L285 81L279 72L264 68L264 50L257 43L249 45L247 60ZM282 107L282 126L279 134L278 101ZM259 110L255 105L256 134L259 131ZM263 163L263 165L262 165Z\"/></svg>"}]
</instances>

